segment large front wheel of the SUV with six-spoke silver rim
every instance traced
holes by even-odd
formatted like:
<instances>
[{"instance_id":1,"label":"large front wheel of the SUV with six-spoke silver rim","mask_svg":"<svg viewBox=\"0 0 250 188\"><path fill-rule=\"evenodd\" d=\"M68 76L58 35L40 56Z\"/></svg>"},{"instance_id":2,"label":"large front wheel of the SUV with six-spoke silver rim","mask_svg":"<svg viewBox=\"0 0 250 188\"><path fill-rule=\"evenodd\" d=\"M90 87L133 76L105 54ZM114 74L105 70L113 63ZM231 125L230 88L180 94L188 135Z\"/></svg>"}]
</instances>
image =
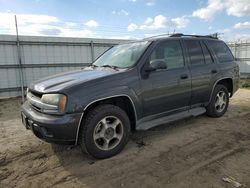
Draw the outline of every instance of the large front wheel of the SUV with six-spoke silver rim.
<instances>
[{"instance_id":1,"label":"large front wheel of the SUV with six-spoke silver rim","mask_svg":"<svg viewBox=\"0 0 250 188\"><path fill-rule=\"evenodd\" d=\"M105 159L120 153L127 144L130 121L121 108L104 104L86 115L79 133L82 151L94 158Z\"/></svg>"}]
</instances>

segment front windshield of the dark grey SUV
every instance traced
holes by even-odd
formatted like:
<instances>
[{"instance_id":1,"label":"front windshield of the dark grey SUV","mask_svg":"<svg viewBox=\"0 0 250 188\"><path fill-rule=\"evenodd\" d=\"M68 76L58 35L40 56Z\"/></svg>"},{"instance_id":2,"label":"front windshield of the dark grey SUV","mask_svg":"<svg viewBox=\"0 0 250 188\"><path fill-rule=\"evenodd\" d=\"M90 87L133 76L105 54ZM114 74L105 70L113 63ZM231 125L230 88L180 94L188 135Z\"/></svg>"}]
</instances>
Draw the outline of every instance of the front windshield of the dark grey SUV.
<instances>
[{"instance_id":1,"label":"front windshield of the dark grey SUV","mask_svg":"<svg viewBox=\"0 0 250 188\"><path fill-rule=\"evenodd\" d=\"M100 56L93 65L113 66L118 68L132 67L142 55L149 42L134 42L114 46Z\"/></svg>"}]
</instances>

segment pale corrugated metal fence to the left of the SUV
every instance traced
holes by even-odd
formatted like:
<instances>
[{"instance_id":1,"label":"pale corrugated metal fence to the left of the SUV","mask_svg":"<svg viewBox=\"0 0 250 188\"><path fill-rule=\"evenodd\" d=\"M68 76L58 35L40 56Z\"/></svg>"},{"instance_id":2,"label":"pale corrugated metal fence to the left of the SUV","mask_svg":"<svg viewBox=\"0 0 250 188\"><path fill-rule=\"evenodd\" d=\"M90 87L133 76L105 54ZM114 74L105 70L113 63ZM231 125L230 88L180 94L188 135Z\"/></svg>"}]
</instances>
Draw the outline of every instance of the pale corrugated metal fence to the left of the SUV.
<instances>
[{"instance_id":1,"label":"pale corrugated metal fence to the left of the SUV","mask_svg":"<svg viewBox=\"0 0 250 188\"><path fill-rule=\"evenodd\" d=\"M113 45L111 39L20 37L24 86L34 80L90 64ZM21 77L16 37L0 35L0 97L20 95Z\"/></svg>"}]
</instances>

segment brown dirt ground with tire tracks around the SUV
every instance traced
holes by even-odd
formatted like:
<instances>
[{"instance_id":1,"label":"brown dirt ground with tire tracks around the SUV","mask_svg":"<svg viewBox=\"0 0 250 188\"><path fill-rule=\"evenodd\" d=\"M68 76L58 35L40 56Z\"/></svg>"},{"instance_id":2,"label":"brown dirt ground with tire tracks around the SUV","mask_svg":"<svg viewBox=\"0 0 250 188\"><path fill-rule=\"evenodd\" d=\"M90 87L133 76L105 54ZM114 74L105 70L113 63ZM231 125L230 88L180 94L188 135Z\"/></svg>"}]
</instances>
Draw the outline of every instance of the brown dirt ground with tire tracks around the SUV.
<instances>
[{"instance_id":1,"label":"brown dirt ground with tire tracks around the SUV","mask_svg":"<svg viewBox=\"0 0 250 188\"><path fill-rule=\"evenodd\" d=\"M21 124L20 99L0 101L0 187L250 187L250 90L222 118L205 115L136 132L126 148L93 160L79 147L40 141Z\"/></svg>"}]
</instances>

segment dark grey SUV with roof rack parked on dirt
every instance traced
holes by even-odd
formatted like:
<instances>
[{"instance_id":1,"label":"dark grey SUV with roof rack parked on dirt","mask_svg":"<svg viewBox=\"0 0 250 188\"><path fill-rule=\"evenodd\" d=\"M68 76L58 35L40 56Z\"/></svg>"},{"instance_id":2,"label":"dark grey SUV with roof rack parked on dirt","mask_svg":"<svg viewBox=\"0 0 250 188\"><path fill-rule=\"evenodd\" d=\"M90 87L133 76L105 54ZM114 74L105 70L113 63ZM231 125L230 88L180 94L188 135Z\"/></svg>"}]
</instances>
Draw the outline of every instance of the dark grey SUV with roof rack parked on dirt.
<instances>
[{"instance_id":1,"label":"dark grey SUV with roof rack parked on dirt","mask_svg":"<svg viewBox=\"0 0 250 188\"><path fill-rule=\"evenodd\" d=\"M81 70L30 85L22 122L40 139L79 144L103 159L132 130L206 113L222 116L238 89L239 67L212 36L174 34L117 45Z\"/></svg>"}]
</instances>

